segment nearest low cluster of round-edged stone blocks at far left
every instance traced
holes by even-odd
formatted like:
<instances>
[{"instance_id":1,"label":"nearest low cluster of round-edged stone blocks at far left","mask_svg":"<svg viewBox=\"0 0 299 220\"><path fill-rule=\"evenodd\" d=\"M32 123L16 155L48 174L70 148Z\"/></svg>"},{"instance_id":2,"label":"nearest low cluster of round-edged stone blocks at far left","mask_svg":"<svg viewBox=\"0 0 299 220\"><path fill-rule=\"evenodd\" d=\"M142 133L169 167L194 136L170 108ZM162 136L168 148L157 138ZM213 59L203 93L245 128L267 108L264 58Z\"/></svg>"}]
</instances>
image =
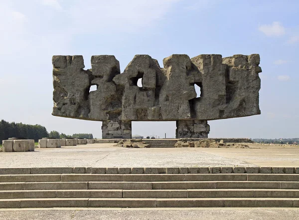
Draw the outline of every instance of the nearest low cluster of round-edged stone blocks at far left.
<instances>
[{"instance_id":1,"label":"nearest low cluster of round-edged stone blocks at far left","mask_svg":"<svg viewBox=\"0 0 299 220\"><path fill-rule=\"evenodd\" d=\"M3 152L26 152L34 151L34 140L9 138L11 140L3 140Z\"/></svg>"}]
</instances>

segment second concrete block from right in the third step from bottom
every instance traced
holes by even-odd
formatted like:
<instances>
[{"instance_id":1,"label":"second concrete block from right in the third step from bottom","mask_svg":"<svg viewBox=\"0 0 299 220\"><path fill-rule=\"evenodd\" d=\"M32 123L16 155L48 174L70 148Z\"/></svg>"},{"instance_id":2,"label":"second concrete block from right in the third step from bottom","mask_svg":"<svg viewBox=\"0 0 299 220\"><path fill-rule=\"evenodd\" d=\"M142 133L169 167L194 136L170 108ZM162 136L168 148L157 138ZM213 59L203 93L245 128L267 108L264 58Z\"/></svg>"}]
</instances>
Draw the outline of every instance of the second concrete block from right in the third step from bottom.
<instances>
[{"instance_id":1,"label":"second concrete block from right in the third step from bottom","mask_svg":"<svg viewBox=\"0 0 299 220\"><path fill-rule=\"evenodd\" d=\"M216 186L217 189L280 189L280 182L219 181Z\"/></svg>"}]
</instances>

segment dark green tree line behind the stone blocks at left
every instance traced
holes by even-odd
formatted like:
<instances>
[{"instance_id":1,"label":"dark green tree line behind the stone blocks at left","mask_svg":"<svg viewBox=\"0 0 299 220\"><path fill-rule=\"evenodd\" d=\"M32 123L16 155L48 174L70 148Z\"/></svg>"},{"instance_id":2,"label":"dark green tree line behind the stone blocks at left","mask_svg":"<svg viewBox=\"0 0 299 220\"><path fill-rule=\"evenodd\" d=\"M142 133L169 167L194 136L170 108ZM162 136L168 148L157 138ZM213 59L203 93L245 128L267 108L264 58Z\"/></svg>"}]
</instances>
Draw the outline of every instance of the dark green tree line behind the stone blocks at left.
<instances>
[{"instance_id":1,"label":"dark green tree line behind the stone blocks at left","mask_svg":"<svg viewBox=\"0 0 299 220\"><path fill-rule=\"evenodd\" d=\"M0 121L0 144L2 140L7 140L12 137L23 137L27 139L34 139L37 142L39 139L46 137L53 138L86 138L93 139L92 134L73 134L66 135L59 133L58 131L47 132L47 129L41 125L28 125L23 123L7 122L4 120Z\"/></svg>"}]
</instances>

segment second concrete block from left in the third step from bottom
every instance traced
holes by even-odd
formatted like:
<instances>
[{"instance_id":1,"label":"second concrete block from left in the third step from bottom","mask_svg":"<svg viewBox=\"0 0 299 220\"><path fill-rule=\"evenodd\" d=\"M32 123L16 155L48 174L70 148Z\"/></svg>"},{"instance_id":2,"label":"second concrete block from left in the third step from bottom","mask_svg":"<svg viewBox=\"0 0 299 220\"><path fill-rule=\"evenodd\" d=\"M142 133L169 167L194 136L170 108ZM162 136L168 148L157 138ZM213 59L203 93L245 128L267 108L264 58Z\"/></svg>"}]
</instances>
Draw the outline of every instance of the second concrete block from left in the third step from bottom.
<instances>
[{"instance_id":1,"label":"second concrete block from left in the third step from bottom","mask_svg":"<svg viewBox=\"0 0 299 220\"><path fill-rule=\"evenodd\" d=\"M87 190L87 182L24 183L24 190Z\"/></svg>"}]
</instances>

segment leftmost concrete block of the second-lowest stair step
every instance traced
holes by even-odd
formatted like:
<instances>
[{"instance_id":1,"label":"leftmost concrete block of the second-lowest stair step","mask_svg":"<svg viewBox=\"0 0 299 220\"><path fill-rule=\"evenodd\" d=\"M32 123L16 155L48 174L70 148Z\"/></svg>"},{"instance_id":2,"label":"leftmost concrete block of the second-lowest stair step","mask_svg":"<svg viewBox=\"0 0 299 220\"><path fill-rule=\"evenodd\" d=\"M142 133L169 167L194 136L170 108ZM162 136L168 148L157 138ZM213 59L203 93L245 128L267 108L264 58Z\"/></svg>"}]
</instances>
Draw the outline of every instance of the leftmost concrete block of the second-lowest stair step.
<instances>
[{"instance_id":1,"label":"leftmost concrete block of the second-lowest stair step","mask_svg":"<svg viewBox=\"0 0 299 220\"><path fill-rule=\"evenodd\" d=\"M0 191L0 199L56 198L56 191Z\"/></svg>"}]
</instances>

